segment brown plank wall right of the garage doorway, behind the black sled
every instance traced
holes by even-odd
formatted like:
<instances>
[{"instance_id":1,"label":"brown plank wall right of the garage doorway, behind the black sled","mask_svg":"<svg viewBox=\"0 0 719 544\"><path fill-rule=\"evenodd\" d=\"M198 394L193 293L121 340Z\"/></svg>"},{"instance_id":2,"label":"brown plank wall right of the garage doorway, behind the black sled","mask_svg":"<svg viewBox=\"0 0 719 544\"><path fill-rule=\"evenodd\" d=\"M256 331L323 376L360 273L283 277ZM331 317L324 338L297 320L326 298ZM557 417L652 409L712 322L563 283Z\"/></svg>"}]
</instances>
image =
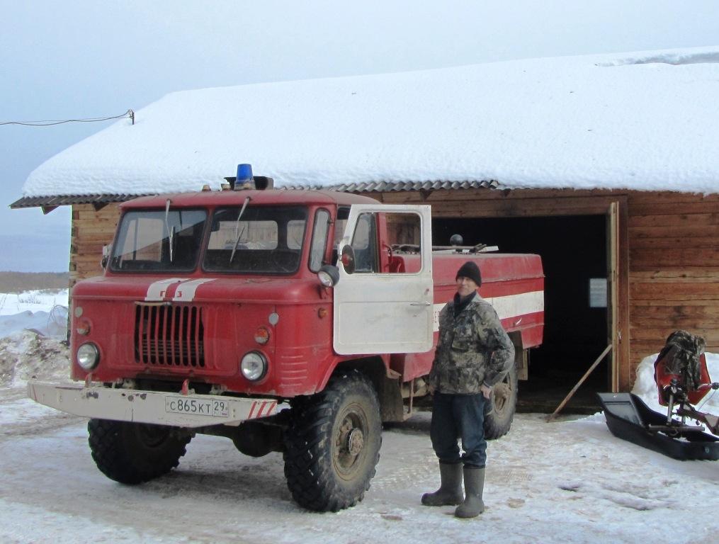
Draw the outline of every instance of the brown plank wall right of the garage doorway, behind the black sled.
<instances>
[{"instance_id":1,"label":"brown plank wall right of the garage doorway, behind the black sled","mask_svg":"<svg viewBox=\"0 0 719 544\"><path fill-rule=\"evenodd\" d=\"M719 353L719 195L632 192L628 213L633 381L680 328Z\"/></svg>"}]
</instances>

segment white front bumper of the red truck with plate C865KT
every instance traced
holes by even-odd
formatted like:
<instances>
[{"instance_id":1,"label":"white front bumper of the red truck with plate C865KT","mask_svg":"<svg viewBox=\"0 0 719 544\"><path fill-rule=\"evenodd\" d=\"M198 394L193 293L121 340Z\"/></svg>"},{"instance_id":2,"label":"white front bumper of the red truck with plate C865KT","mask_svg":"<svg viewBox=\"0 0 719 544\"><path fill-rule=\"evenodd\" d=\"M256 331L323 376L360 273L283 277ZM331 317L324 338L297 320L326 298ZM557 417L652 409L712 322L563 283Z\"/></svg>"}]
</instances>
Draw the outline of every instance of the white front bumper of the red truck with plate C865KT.
<instances>
[{"instance_id":1,"label":"white front bumper of the red truck with plate C865KT","mask_svg":"<svg viewBox=\"0 0 719 544\"><path fill-rule=\"evenodd\" d=\"M277 400L244 399L221 395L88 387L30 380L27 396L35 402L86 418L173 425L175 427L237 426L278 411ZM193 402L194 401L194 402ZM185 411L177 412L179 407ZM192 411L195 411L194 413Z\"/></svg>"}]
</instances>

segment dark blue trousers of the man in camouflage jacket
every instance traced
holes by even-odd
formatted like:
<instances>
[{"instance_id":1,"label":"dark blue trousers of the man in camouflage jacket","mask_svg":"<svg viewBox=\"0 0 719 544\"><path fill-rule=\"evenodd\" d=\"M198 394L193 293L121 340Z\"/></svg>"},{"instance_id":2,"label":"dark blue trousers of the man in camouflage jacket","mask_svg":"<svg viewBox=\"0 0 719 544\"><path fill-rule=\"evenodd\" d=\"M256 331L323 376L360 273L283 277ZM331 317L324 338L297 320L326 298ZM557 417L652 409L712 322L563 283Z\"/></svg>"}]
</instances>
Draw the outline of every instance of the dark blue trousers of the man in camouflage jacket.
<instances>
[{"instance_id":1,"label":"dark blue trousers of the man in camouflage jacket","mask_svg":"<svg viewBox=\"0 0 719 544\"><path fill-rule=\"evenodd\" d=\"M434 453L441 463L483 467L487 461L485 441L485 399L477 395L434 394L432 424L429 431ZM464 455L459 455L457 439L462 439Z\"/></svg>"}]
</instances>

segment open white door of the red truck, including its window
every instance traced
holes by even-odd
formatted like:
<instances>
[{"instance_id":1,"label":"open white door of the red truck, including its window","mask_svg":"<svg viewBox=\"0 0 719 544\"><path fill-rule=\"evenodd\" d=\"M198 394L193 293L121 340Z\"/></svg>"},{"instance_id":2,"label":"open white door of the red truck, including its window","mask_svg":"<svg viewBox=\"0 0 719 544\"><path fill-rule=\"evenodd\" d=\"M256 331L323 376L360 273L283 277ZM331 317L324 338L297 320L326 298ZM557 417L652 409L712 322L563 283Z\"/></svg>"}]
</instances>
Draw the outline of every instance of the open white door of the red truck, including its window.
<instances>
[{"instance_id":1,"label":"open white door of the red truck, including its window","mask_svg":"<svg viewBox=\"0 0 719 544\"><path fill-rule=\"evenodd\" d=\"M386 226L384 232L380 227ZM386 239L383 237L386 236ZM404 267L380 271L380 252L404 244ZM355 270L340 258L334 287L334 351L338 354L421 353L432 347L431 206L354 205L337 252L352 246ZM411 254L406 254L411 253Z\"/></svg>"}]
</instances>

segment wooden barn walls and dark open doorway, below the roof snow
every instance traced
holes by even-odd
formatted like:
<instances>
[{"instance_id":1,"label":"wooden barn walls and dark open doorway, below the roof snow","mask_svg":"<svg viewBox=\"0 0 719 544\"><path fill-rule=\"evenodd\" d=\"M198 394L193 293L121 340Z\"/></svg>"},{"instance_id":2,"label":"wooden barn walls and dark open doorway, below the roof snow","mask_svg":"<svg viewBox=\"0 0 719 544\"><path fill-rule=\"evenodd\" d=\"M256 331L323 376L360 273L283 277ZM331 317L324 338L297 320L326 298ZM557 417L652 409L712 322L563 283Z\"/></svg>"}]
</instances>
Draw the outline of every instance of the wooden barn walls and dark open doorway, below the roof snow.
<instances>
[{"instance_id":1,"label":"wooden barn walls and dark open doorway, below the roof snow","mask_svg":"<svg viewBox=\"0 0 719 544\"><path fill-rule=\"evenodd\" d=\"M604 381L615 390L631 389L639 361L659 351L676 329L704 336L707 351L719 351L717 194L502 190L491 183L402 190L398 186L406 184L367 185L341 188L384 203L431 204L436 244L457 233L469 244L541 255L546 328L531 369L564 389L609 343L610 363L595 371L594 384ZM73 285L101 274L102 246L111 243L119 218L117 202L128 198L22 198L12 206L73 207ZM548 370L541 372L541 366Z\"/></svg>"}]
</instances>

